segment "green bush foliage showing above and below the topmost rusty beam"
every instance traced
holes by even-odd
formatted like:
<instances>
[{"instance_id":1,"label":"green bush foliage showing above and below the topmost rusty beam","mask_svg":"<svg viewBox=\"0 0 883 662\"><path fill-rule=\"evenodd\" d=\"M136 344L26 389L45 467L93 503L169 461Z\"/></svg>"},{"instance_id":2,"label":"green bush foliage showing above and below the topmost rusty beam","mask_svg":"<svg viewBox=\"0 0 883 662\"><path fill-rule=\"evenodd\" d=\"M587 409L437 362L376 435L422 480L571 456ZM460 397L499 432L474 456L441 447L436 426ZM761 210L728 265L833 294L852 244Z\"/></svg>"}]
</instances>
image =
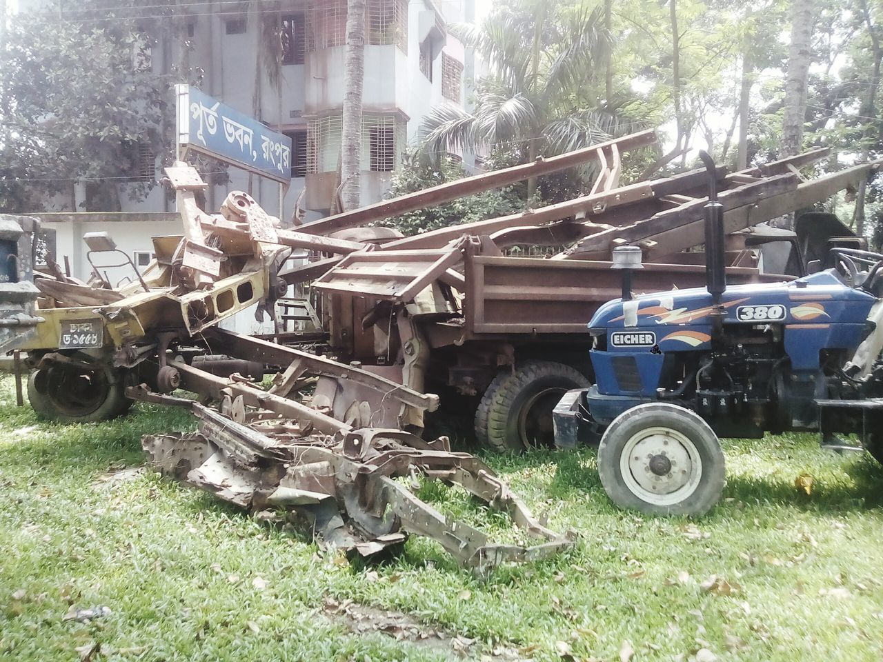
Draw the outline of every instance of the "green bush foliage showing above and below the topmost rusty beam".
<instances>
[{"instance_id":1,"label":"green bush foliage showing above and below the topmost rusty beam","mask_svg":"<svg viewBox=\"0 0 883 662\"><path fill-rule=\"evenodd\" d=\"M499 153L487 159L487 169L514 165L517 154ZM388 198L422 191L430 186L446 184L466 176L463 165L445 155L431 162L425 154L409 152L403 155L402 168L393 175ZM483 221L487 218L516 214L525 207L524 185L506 186L461 198L438 207L420 209L378 223L397 229L405 236L417 235L450 225Z\"/></svg>"}]
</instances>

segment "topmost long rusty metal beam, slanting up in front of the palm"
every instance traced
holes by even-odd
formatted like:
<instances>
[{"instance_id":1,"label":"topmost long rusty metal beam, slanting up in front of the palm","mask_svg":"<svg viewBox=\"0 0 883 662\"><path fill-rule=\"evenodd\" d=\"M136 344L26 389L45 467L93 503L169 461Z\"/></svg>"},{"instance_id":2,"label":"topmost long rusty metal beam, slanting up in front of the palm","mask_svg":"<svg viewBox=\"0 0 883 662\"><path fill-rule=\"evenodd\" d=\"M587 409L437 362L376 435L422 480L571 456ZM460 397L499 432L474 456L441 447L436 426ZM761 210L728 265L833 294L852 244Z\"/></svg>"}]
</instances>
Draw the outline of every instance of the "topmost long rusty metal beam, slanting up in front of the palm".
<instances>
[{"instance_id":1,"label":"topmost long rusty metal beam, slanting up in front of the palm","mask_svg":"<svg viewBox=\"0 0 883 662\"><path fill-rule=\"evenodd\" d=\"M474 195L482 191L489 191L500 186L515 184L530 177L548 175L558 170L573 168L584 163L597 161L600 150L616 146L619 153L645 147L656 141L656 133L644 131L632 133L623 138L608 140L607 142L578 149L574 152L552 156L547 159L540 158L533 163L514 166L502 170L494 170L475 177L457 179L455 182L433 186L425 191L419 191L403 195L399 198L382 200L368 207L360 207L343 214L336 214L313 221L300 226L301 232L314 235L327 235L338 229L353 228L369 222L380 221L390 216L397 216L407 212L435 207L445 202L467 195Z\"/></svg>"}]
</instances>

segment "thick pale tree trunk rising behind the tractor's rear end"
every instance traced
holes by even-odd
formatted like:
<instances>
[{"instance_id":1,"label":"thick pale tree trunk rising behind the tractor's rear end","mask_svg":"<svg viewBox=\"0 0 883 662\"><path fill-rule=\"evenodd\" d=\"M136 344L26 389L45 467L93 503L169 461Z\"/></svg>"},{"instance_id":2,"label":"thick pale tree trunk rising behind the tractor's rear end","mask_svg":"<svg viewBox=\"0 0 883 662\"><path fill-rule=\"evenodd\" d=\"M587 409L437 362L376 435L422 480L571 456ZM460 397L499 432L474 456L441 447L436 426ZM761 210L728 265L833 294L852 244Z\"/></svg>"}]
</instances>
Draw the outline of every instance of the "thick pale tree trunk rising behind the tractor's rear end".
<instances>
[{"instance_id":1,"label":"thick pale tree trunk rising behind the tractor's rear end","mask_svg":"<svg viewBox=\"0 0 883 662\"><path fill-rule=\"evenodd\" d=\"M810 73L812 22L815 0L793 0L788 79L785 81L785 115L781 126L780 156L799 154L804 140L806 79Z\"/></svg>"}]
</instances>

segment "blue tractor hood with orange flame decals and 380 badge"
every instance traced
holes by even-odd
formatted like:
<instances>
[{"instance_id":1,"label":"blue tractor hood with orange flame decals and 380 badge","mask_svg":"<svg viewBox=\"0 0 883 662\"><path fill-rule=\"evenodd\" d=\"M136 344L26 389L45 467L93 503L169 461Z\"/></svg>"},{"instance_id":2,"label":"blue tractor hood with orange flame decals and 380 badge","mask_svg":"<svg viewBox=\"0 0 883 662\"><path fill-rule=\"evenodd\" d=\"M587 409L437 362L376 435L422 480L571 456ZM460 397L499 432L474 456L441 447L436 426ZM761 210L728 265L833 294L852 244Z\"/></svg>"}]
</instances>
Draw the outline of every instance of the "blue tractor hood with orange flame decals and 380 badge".
<instances>
[{"instance_id":1,"label":"blue tractor hood with orange flame decals and 380 badge","mask_svg":"<svg viewBox=\"0 0 883 662\"><path fill-rule=\"evenodd\" d=\"M864 324L874 301L867 292L844 284L832 269L790 282L729 286L721 297L725 324ZM602 305L589 322L589 330L592 335L616 329L634 331L617 339L643 345L649 336L642 337L642 330L710 326L712 312L712 296L704 288L656 292Z\"/></svg>"}]
</instances>

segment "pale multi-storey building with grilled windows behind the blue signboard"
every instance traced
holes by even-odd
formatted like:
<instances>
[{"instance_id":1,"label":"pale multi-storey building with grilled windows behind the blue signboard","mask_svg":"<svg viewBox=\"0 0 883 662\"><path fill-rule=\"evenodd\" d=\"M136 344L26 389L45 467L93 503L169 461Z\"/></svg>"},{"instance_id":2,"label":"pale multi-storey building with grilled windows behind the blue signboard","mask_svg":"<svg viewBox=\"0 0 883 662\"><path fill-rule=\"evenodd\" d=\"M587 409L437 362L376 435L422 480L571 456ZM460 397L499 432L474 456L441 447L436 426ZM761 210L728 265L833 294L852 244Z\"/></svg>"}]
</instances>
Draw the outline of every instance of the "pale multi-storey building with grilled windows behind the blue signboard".
<instances>
[{"instance_id":1,"label":"pale multi-storey building with grilled windows behind the blue signboard","mask_svg":"<svg viewBox=\"0 0 883 662\"><path fill-rule=\"evenodd\" d=\"M472 56L449 33L453 22L474 19L475 0L366 0L365 79L363 87L361 202L381 199L389 188L400 154L416 143L426 113L442 102L463 104L471 79ZM249 11L241 12L248 5ZM186 40L170 35L150 49L154 71L170 72L185 64L203 71L201 89L216 99L257 117L292 140L291 186L279 207L275 182L252 180L253 196L271 214L291 218L298 198L306 220L328 214L340 183L340 149L344 91L346 0L290 0L282 11L260 3L181 0L187 12ZM46 8L44 0L19 0L19 10ZM55 6L54 3L51 6ZM269 6L269 5L268 5ZM278 84L271 84L260 57L260 21L278 21L282 32ZM187 49L180 51L186 41ZM162 177L162 162L135 147L133 180ZM174 202L159 185L143 199L131 199L119 184L121 211L85 205L88 186L72 196L46 201L36 209L44 226L55 231L59 260L70 258L72 274L88 275L81 237L107 230L138 264L151 257L150 237L177 234L180 222ZM230 168L229 181L213 183L208 207L216 208L232 190L248 190L249 177ZM306 191L305 191L306 189ZM304 195L301 197L301 193ZM85 209L88 207L88 211Z\"/></svg>"}]
</instances>

